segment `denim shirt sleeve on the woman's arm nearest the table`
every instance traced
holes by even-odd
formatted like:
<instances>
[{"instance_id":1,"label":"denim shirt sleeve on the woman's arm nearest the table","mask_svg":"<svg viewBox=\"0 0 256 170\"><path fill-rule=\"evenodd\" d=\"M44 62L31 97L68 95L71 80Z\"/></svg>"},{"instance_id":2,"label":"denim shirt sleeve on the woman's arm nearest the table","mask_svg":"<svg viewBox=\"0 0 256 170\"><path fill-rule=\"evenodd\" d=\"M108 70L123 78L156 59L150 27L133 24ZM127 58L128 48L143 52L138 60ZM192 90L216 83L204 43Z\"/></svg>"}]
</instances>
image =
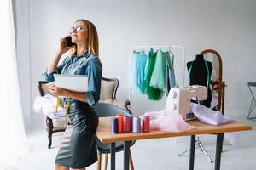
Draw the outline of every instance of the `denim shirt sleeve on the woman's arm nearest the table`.
<instances>
[{"instance_id":1,"label":"denim shirt sleeve on the woman's arm nearest the table","mask_svg":"<svg viewBox=\"0 0 256 170\"><path fill-rule=\"evenodd\" d=\"M88 90L85 92L85 97L87 103L94 106L101 94L102 63L99 59L91 59L88 64Z\"/></svg>"}]
</instances>

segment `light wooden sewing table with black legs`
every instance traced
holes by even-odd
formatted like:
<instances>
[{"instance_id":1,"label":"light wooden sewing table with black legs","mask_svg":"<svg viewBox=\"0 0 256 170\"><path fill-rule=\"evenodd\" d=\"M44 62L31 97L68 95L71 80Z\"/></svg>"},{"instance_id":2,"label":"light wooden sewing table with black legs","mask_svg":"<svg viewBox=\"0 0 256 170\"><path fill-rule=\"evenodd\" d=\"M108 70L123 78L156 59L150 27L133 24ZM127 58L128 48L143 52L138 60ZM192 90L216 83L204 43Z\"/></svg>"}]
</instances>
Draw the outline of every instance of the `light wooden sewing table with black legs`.
<instances>
[{"instance_id":1,"label":"light wooden sewing table with black legs","mask_svg":"<svg viewBox=\"0 0 256 170\"><path fill-rule=\"evenodd\" d=\"M195 161L195 135L217 134L214 169L219 170L224 133L246 131L252 129L251 126L241 124L240 122L232 122L221 126L212 126L199 121L190 121L189 124L195 126L195 129L185 131L183 133L161 132L152 130L150 131L150 133L111 134L111 117L100 117L100 123L96 130L96 136L104 144L111 143L111 170L115 169L115 142L124 142L124 170L129 170L129 142L131 140L191 136L189 170L193 170Z\"/></svg>"}]
</instances>

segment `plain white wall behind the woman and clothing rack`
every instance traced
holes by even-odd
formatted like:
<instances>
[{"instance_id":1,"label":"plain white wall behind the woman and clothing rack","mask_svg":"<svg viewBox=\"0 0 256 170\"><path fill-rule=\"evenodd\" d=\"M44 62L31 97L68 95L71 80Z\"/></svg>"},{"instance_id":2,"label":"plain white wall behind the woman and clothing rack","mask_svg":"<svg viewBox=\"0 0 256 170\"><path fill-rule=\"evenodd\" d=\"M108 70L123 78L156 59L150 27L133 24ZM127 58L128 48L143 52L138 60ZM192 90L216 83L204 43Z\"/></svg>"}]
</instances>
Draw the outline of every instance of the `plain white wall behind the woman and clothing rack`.
<instances>
[{"instance_id":1,"label":"plain white wall behind the woman and clothing rack","mask_svg":"<svg viewBox=\"0 0 256 170\"><path fill-rule=\"evenodd\" d=\"M247 82L255 81L256 3L253 0L131 0L131 1L30 1L32 100L38 95L49 60L58 39L67 34L75 20L95 23L100 38L104 77L118 77L118 98L128 98L129 54L134 45L179 44L186 59L205 48L216 49L224 64L226 108L247 109ZM181 65L176 69L180 70ZM132 110L142 115L158 110L147 99L131 95ZM245 113L241 113L245 114Z\"/></svg>"}]
</instances>

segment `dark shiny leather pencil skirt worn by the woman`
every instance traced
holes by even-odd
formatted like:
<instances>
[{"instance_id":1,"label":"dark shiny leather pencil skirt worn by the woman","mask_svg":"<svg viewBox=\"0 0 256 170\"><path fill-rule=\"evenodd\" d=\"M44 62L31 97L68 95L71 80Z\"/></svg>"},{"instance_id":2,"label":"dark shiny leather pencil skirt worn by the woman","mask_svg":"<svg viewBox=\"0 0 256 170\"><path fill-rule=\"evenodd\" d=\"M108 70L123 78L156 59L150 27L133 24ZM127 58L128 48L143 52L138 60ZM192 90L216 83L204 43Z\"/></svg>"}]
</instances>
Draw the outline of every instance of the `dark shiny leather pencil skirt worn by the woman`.
<instances>
[{"instance_id":1,"label":"dark shiny leather pencil skirt worn by the woman","mask_svg":"<svg viewBox=\"0 0 256 170\"><path fill-rule=\"evenodd\" d=\"M55 164L84 168L97 161L96 127L98 116L87 103L70 100L68 123Z\"/></svg>"}]
</instances>

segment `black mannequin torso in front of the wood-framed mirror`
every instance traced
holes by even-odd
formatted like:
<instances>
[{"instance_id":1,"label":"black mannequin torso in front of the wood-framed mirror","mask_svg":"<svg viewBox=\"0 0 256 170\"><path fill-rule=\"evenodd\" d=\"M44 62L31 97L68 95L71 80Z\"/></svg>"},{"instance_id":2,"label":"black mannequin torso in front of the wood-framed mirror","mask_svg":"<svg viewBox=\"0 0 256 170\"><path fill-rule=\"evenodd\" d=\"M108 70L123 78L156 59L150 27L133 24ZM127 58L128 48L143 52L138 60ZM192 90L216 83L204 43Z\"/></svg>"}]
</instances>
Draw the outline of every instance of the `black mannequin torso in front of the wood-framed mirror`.
<instances>
[{"instance_id":1,"label":"black mannequin torso in front of the wood-framed mirror","mask_svg":"<svg viewBox=\"0 0 256 170\"><path fill-rule=\"evenodd\" d=\"M189 61L187 63L187 68L188 68L188 71L190 71L189 85L201 85L201 86L207 87L207 79L209 79L208 80L209 83L211 82L212 63L209 61L206 61L203 55L201 54L196 55L194 61ZM207 68L208 68L208 71L207 71ZM210 84L208 84L208 87L207 87L208 88L207 99L204 101L201 101L201 105L205 105L207 107L211 106L211 101L212 101L212 93L209 85Z\"/></svg>"}]
</instances>

